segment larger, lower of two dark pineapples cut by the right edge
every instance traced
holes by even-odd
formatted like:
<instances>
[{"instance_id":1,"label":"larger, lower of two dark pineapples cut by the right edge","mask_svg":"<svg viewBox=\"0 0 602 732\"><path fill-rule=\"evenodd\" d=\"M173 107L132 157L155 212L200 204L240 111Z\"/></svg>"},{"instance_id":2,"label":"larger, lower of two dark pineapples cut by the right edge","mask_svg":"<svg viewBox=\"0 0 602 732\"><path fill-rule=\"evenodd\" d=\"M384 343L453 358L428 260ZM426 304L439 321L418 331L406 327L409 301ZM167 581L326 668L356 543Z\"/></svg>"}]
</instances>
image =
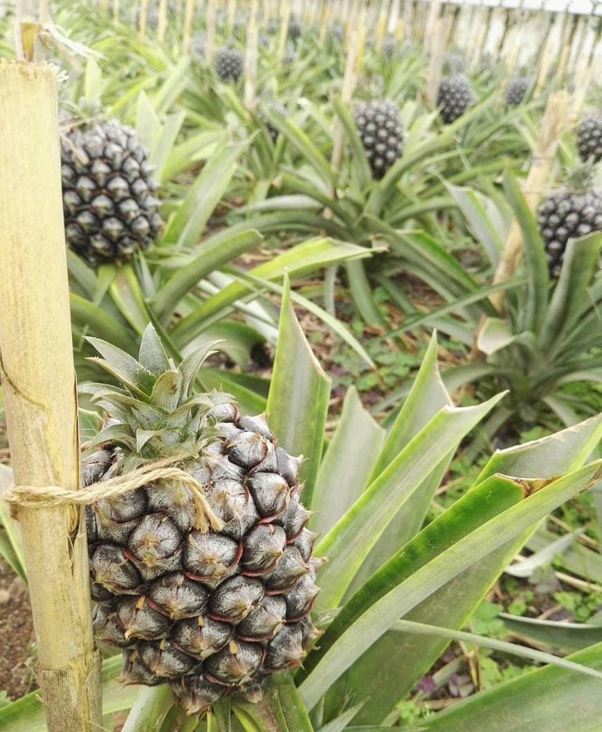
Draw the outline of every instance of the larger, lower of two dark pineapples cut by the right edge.
<instances>
[{"instance_id":1,"label":"larger, lower of two dark pineapples cut by the right edge","mask_svg":"<svg viewBox=\"0 0 602 732\"><path fill-rule=\"evenodd\" d=\"M557 278L569 239L602 231L602 191L591 187L592 165L573 171L565 187L541 202L537 220L546 249L549 273Z\"/></svg>"}]
</instances>

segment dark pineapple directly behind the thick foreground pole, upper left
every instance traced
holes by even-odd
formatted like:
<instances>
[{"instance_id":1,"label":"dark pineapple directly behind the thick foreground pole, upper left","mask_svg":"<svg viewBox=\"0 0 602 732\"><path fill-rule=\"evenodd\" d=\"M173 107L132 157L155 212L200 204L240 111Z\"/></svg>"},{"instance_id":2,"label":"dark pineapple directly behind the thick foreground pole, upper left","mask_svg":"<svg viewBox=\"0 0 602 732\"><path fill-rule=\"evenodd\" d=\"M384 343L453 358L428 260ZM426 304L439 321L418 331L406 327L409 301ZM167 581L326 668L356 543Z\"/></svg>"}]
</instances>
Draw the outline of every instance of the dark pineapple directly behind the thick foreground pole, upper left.
<instances>
[{"instance_id":1,"label":"dark pineapple directly behind the thick foreground pole, upper left","mask_svg":"<svg viewBox=\"0 0 602 732\"><path fill-rule=\"evenodd\" d=\"M130 258L162 228L157 181L138 135L116 119L61 137L67 244L90 264Z\"/></svg>"}]
</instances>

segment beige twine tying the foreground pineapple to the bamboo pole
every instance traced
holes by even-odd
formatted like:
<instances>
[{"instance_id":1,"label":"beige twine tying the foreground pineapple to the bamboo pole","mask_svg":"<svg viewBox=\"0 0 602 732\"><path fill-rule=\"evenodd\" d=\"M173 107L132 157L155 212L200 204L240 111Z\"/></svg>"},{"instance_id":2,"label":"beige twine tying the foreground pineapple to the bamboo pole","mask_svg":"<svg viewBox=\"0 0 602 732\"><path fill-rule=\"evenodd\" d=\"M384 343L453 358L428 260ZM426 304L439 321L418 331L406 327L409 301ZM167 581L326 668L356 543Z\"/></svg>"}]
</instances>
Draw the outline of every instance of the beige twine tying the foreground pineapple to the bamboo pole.
<instances>
[{"instance_id":1,"label":"beige twine tying the foreground pineapple to the bamboo pole","mask_svg":"<svg viewBox=\"0 0 602 732\"><path fill-rule=\"evenodd\" d=\"M214 514L208 504L203 486L177 464L181 457L163 458L154 463L135 468L129 473L117 475L107 480L91 483L78 490L70 490L60 485L12 485L4 493L4 501L10 506L12 518L18 518L19 508L56 508L59 506L81 507L94 504L101 498L116 498L142 488L148 483L159 480L176 480L186 486L195 501L195 529L206 532L219 531L223 521Z\"/></svg>"}]
</instances>

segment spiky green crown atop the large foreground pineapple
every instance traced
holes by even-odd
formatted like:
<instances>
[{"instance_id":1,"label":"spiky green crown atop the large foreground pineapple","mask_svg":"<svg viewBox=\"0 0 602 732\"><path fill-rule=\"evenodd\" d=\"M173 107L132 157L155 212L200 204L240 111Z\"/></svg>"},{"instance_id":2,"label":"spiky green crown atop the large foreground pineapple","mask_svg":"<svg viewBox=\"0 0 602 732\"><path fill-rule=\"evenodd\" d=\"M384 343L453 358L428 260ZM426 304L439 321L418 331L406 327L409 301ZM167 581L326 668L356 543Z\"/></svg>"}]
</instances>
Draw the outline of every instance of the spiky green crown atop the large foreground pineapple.
<instances>
[{"instance_id":1,"label":"spiky green crown atop the large foreground pineapple","mask_svg":"<svg viewBox=\"0 0 602 732\"><path fill-rule=\"evenodd\" d=\"M115 445L119 448L118 463L130 470L149 460L195 458L217 435L208 411L232 403L233 398L220 392L193 393L198 371L215 353L211 350L215 343L195 349L176 367L151 324L144 331L138 361L105 340L88 340L101 356L89 360L120 384L80 387L111 417L91 447Z\"/></svg>"}]
</instances>

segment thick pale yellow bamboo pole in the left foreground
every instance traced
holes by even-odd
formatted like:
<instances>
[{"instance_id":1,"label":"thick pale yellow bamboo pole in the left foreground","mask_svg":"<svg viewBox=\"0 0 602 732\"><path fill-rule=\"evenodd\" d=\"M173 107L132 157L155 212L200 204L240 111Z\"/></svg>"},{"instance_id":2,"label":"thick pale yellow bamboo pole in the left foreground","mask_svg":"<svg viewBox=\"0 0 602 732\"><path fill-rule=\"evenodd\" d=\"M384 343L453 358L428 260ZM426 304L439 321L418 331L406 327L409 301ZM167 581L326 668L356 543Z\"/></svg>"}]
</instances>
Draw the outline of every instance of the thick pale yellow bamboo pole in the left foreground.
<instances>
[{"instance_id":1,"label":"thick pale yellow bamboo pole in the left foreground","mask_svg":"<svg viewBox=\"0 0 602 732\"><path fill-rule=\"evenodd\" d=\"M0 370L12 467L18 485L77 489L56 69L0 59L0 86ZM85 525L69 507L18 518L48 732L99 732Z\"/></svg>"}]
</instances>

